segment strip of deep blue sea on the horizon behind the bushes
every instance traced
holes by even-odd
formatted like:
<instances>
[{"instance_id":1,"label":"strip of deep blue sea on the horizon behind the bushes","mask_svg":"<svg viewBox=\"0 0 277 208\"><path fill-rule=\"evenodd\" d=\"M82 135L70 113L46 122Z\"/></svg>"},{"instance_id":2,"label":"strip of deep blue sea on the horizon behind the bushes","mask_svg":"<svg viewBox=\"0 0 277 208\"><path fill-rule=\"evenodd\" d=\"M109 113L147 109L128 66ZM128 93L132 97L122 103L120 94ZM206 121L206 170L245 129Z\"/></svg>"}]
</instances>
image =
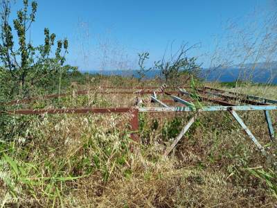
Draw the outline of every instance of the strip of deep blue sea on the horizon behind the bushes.
<instances>
[{"instance_id":1,"label":"strip of deep blue sea on the horizon behind the bushes","mask_svg":"<svg viewBox=\"0 0 277 208\"><path fill-rule=\"evenodd\" d=\"M100 73L102 75L116 75L116 76L129 76L139 77L138 73L134 70L112 70L112 71L82 71L89 72L91 74ZM159 76L160 71L152 70L145 73L145 78L154 78ZM240 80L251 80L253 83L270 83L277 85L277 70L271 71L267 69L254 69L244 70L228 68L228 69L217 69L214 71L208 69L202 69L200 77L206 81L217 81L217 82L235 82L240 75Z\"/></svg>"}]
</instances>

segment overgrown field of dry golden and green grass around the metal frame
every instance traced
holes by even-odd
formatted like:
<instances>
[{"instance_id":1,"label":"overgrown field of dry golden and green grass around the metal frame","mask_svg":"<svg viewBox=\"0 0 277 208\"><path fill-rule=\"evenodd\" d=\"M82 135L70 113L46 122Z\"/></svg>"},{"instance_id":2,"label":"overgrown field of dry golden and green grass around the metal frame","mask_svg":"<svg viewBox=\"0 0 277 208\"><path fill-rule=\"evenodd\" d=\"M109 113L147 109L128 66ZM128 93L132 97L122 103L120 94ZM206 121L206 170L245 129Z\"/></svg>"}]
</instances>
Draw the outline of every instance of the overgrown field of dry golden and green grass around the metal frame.
<instances>
[{"instance_id":1,"label":"overgrown field of dry golden and green grass around the metal frame","mask_svg":"<svg viewBox=\"0 0 277 208\"><path fill-rule=\"evenodd\" d=\"M138 85L118 79L64 90ZM154 80L141 85L159 87ZM222 88L277 98L276 87ZM143 99L150 102L148 97ZM134 102L132 94L91 90L15 108L126 107ZM139 143L130 138L129 114L1 114L6 121L0 141L1 207L274 207L276 141L269 139L263 112L239 114L270 157L260 154L228 112L202 112L168 157L164 150L192 113L139 114ZM271 116L276 130L276 112Z\"/></svg>"}]
</instances>

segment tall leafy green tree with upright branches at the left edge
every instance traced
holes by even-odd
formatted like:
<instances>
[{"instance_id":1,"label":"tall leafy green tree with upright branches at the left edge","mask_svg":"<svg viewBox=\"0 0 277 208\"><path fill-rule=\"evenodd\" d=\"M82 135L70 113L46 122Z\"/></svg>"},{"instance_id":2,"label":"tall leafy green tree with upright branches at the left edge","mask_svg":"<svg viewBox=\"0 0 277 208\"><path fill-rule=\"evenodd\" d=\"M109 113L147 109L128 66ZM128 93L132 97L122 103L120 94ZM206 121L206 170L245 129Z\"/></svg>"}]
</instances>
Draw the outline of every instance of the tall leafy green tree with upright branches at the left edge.
<instances>
[{"instance_id":1,"label":"tall leafy green tree with upright branches at the left edge","mask_svg":"<svg viewBox=\"0 0 277 208\"><path fill-rule=\"evenodd\" d=\"M15 38L10 25L10 0L1 2L0 85L8 85L2 88L10 97L28 96L33 89L47 87L53 78L72 69L63 67L68 49L66 39L57 40L53 57L51 49L55 45L56 35L50 33L48 28L44 28L44 44L33 46L31 40L27 40L28 31L35 21L37 2L23 0L23 3L23 8L17 11L17 18L12 21L17 33Z\"/></svg>"}]
</instances>

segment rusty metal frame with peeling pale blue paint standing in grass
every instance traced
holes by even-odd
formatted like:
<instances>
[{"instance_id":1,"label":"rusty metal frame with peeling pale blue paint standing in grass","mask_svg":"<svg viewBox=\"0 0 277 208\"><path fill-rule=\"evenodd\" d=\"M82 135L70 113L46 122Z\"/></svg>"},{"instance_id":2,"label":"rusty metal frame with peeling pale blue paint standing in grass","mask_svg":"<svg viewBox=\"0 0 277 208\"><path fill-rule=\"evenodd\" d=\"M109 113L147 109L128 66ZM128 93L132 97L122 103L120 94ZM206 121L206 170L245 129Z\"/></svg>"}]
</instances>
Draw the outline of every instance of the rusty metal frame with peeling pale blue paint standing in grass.
<instances>
[{"instance_id":1,"label":"rusty metal frame with peeling pale blue paint standing in grass","mask_svg":"<svg viewBox=\"0 0 277 208\"><path fill-rule=\"evenodd\" d=\"M108 88L106 88L108 89ZM115 89L112 87L111 89ZM132 89L132 88L131 88ZM133 88L134 89L134 88ZM153 87L154 89L154 87ZM157 87L155 87L157 89ZM251 140L256 144L258 149L262 151L262 153L265 153L265 149L258 143L258 140L253 136L249 128L244 124L240 116L235 111L249 111L249 110L263 110L265 112L265 117L267 121L267 125L269 128L269 135L271 136L271 139L274 138L274 128L271 122L271 117L269 114L269 110L277 110L277 105L269 105L270 104L276 104L277 101L267 99L267 98L260 98L256 96L247 96L243 94L238 94L238 93L233 93L233 92L228 92L230 94L233 93L233 95L237 96L244 96L247 97L245 98L236 98L234 96L226 96L224 94L218 94L214 92L207 92L206 89L214 90L216 92L224 92L224 90L221 89L213 89L210 87L204 87L204 89L198 90L198 92L203 92L203 94L197 94L197 99L199 101L208 101L211 103L217 103L220 104L219 106L204 106L199 109L196 109L195 105L193 103L190 103L183 98L180 98L179 96L175 96L173 94L181 94L183 96L188 96L190 98L193 98L193 94L190 92L186 92L184 89L180 89L179 91L173 91L173 92L153 92L153 91L145 91L141 90L139 92L95 92L98 94L153 94L150 96L151 101L154 103L159 103L162 107L111 107L111 108L78 108L78 109L50 109L50 110L13 110L13 111L8 111L9 114L85 114L85 113L100 113L100 114L105 114L105 113L129 113L131 115L131 119L129 120L130 123L130 130L131 130L131 137L134 141L139 141L139 135L136 134L136 132L139 131L139 112L197 112L195 115L188 121L188 123L184 126L184 128L181 130L180 134L178 137L173 141L170 147L167 148L166 152L164 155L168 155L177 145L177 143L181 140L181 138L185 135L187 130L190 128L191 125L193 125L195 118L198 114L198 112L212 112L212 111L229 111L233 117L235 118L236 121L242 126L244 131L249 135ZM75 94L87 94L89 90L82 90L75 92ZM168 102L168 100L163 100L160 101L157 98L157 94L166 94L170 96L174 101L177 101L179 103L182 103L186 105L185 107L170 107L166 105L164 102ZM219 99L211 98L208 96L204 96L205 94L211 94L212 96L217 96L220 98L225 98L227 100L233 100L233 101L240 101L244 103L248 103L251 105L235 105L233 103L229 103L226 101L222 101ZM47 98L59 98L62 96L69 96L70 94L53 94L53 95L48 95L44 96L43 99ZM252 98L253 100L256 101L251 101L249 98ZM37 98L30 98L30 99L24 99L24 100L19 100L19 101L11 101L8 104L15 104L15 103L28 103L30 101L33 101ZM170 100L169 100L170 101ZM262 101L263 103L257 102L257 101Z\"/></svg>"}]
</instances>

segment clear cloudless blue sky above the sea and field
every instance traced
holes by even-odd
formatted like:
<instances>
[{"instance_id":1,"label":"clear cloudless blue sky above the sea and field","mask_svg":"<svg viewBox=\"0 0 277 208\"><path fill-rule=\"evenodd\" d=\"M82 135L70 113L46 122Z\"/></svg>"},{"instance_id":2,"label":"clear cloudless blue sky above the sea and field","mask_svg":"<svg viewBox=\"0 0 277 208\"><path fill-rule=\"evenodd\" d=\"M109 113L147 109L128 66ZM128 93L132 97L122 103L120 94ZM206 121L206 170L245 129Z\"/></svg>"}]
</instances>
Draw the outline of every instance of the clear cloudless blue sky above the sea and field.
<instances>
[{"instance_id":1,"label":"clear cloudless blue sky above the sea and field","mask_svg":"<svg viewBox=\"0 0 277 208\"><path fill-rule=\"evenodd\" d=\"M123 67L136 67L137 53L141 51L150 52L150 61L159 60L173 40L175 47L181 42L201 43L190 55L202 55L213 49L214 38L224 33L227 21L235 19L244 24L247 14L270 6L266 0L38 0L37 3L37 19L31 31L33 42L43 42L44 27L57 37L67 37L70 45L67 61L84 70L103 67L102 59L111 62L112 58L107 56L114 54L115 62L120 62L120 58L129 62ZM207 64L203 56L199 61Z\"/></svg>"}]
</instances>

